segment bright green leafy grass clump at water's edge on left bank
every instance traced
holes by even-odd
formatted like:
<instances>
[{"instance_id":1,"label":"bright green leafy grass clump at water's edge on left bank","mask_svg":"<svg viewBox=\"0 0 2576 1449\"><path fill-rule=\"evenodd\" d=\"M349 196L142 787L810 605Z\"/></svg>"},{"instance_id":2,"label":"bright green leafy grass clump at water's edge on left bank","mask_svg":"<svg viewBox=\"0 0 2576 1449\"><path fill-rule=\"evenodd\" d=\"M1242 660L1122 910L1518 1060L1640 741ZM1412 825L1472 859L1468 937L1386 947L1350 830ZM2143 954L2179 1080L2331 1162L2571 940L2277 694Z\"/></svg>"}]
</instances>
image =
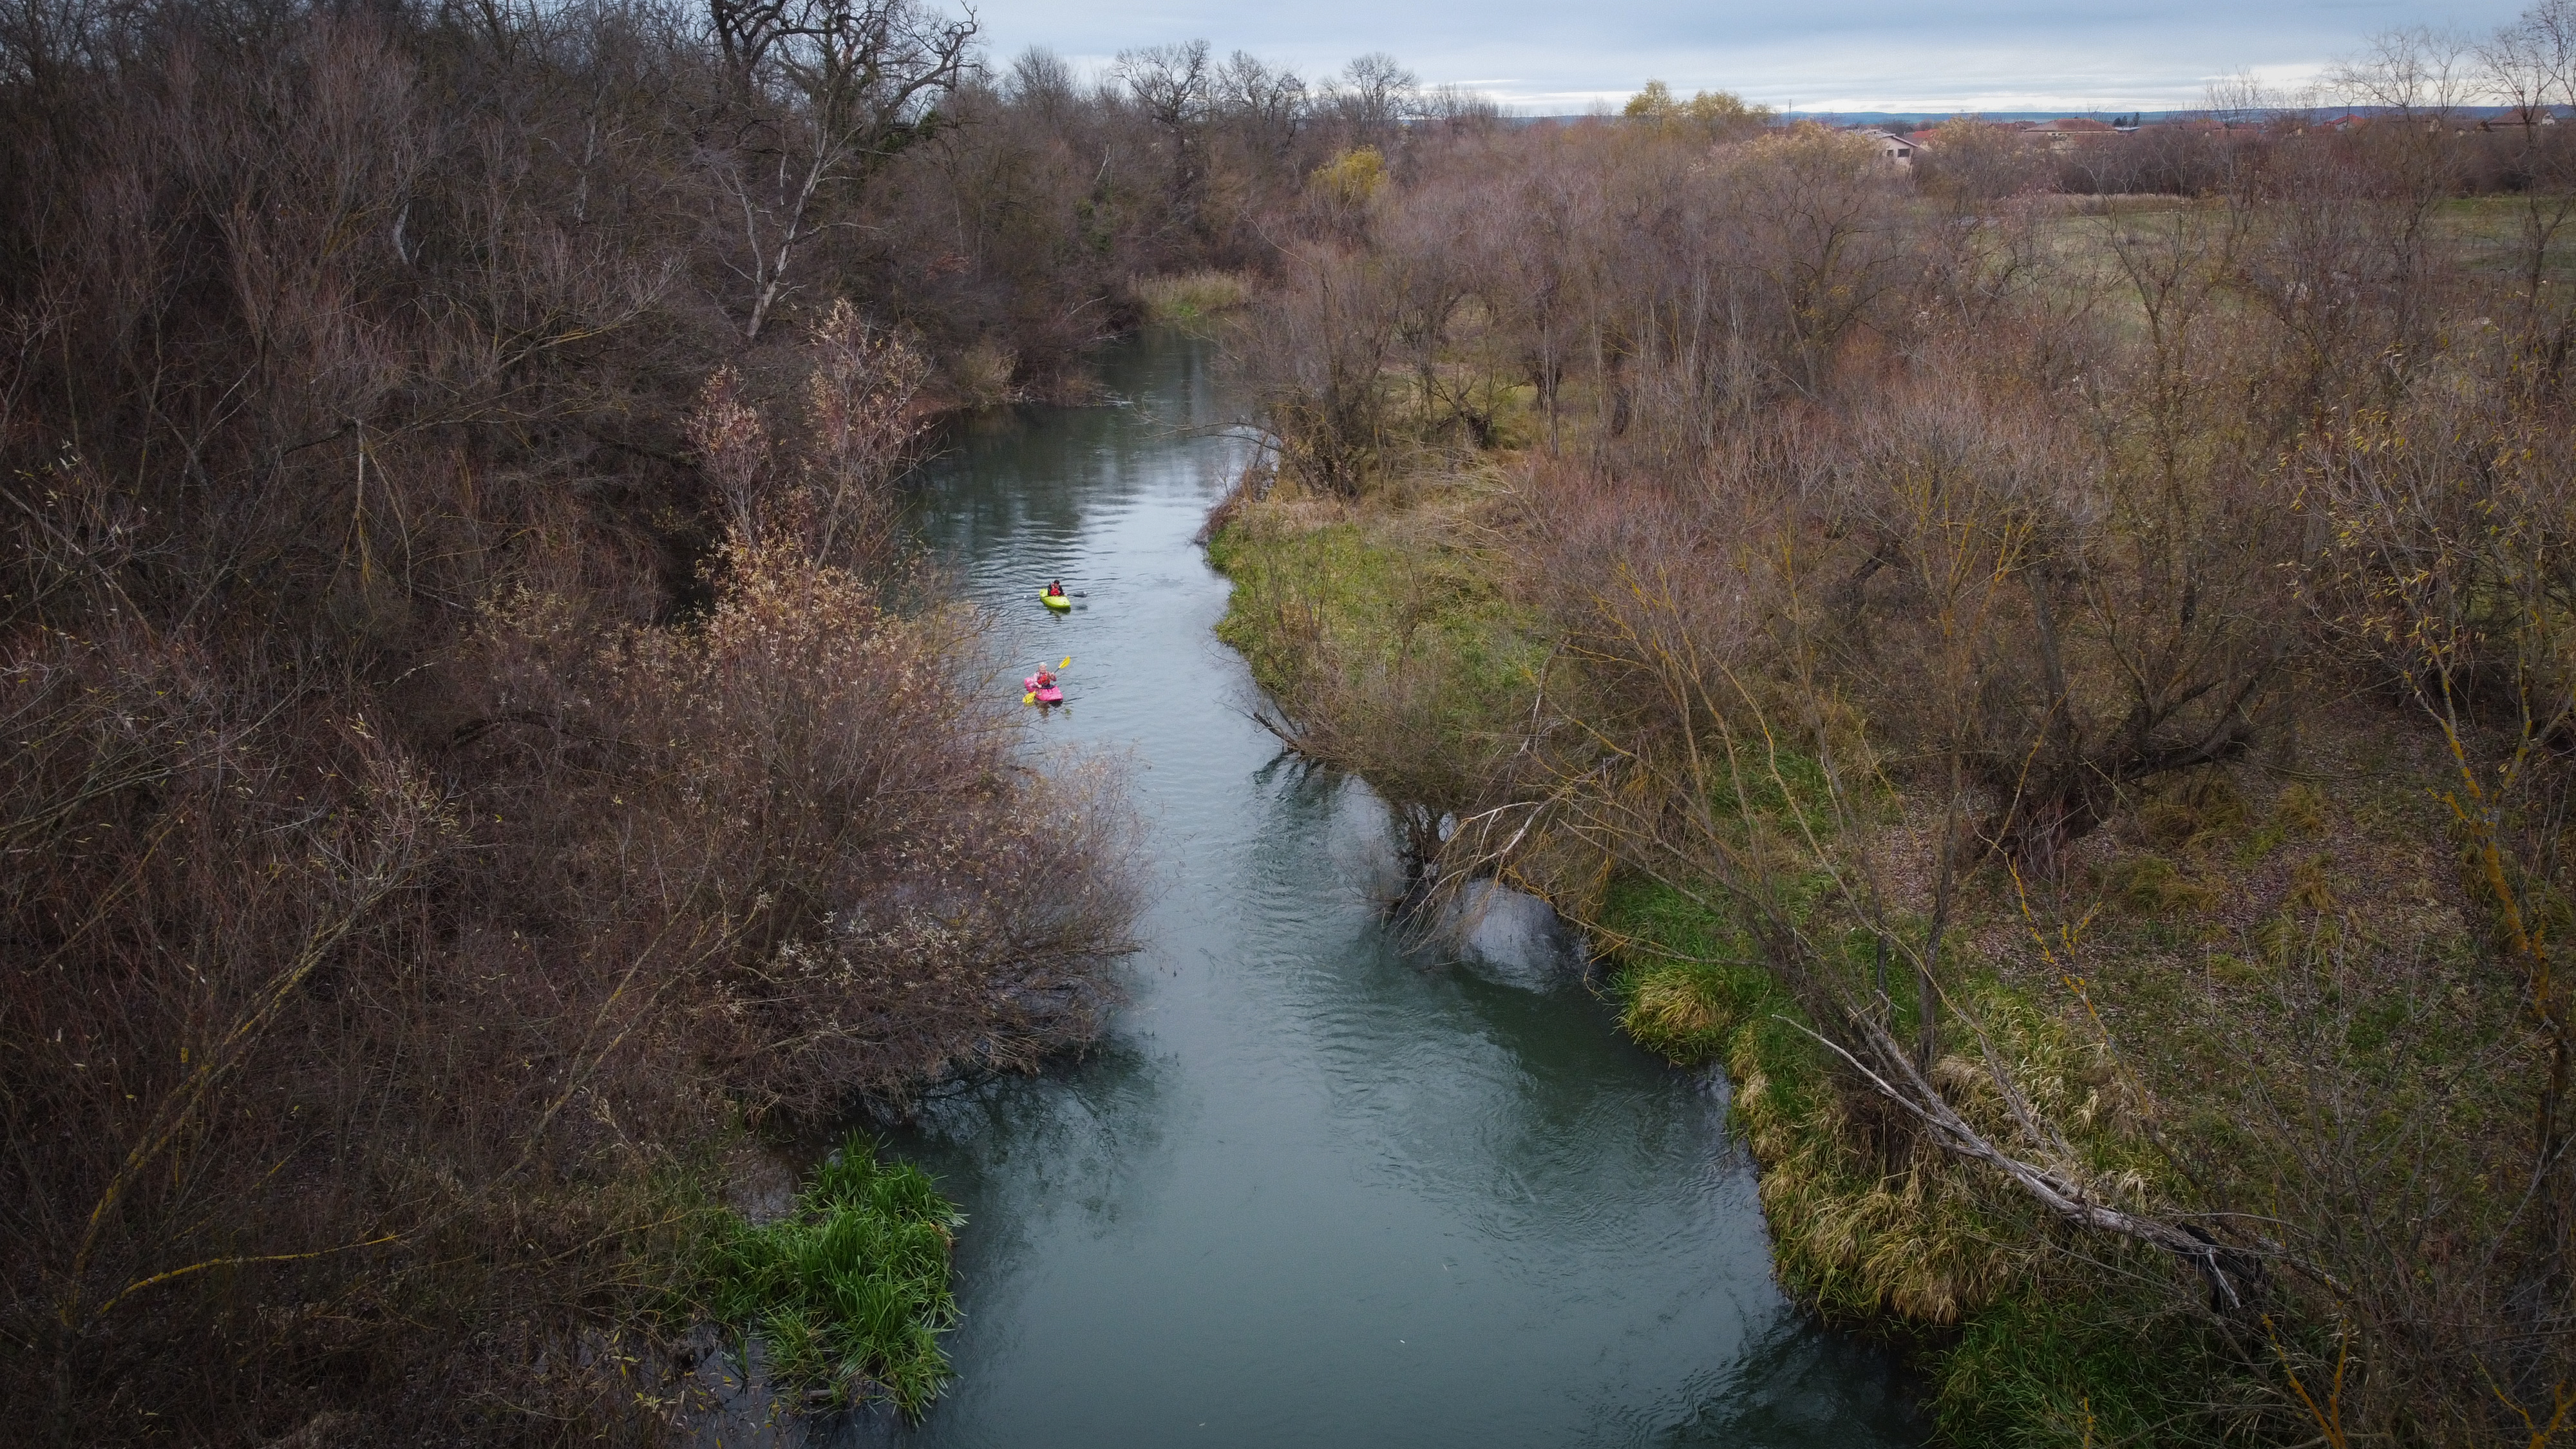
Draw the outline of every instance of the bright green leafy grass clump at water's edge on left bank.
<instances>
[{"instance_id":1,"label":"bright green leafy grass clump at water's edge on left bank","mask_svg":"<svg viewBox=\"0 0 2576 1449\"><path fill-rule=\"evenodd\" d=\"M781 1390L917 1418L951 1377L940 1333L958 1323L948 1250L963 1222L930 1173L853 1134L786 1217L732 1220L714 1250L716 1320L760 1336Z\"/></svg>"}]
</instances>

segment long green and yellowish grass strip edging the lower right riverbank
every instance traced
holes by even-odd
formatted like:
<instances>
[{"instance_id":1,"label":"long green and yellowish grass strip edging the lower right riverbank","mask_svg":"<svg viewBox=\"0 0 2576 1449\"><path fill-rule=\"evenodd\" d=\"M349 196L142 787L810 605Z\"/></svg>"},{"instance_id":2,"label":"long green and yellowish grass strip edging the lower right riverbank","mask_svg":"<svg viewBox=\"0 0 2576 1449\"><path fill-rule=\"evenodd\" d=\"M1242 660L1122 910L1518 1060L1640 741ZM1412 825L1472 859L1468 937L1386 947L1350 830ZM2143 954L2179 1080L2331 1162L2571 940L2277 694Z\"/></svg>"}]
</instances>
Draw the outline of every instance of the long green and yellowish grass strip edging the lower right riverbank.
<instances>
[{"instance_id":1,"label":"long green and yellowish grass strip edging the lower right riverbank","mask_svg":"<svg viewBox=\"0 0 2576 1449\"><path fill-rule=\"evenodd\" d=\"M1731 1124L1762 1165L1762 1212L1783 1284L1824 1318L1899 1338L1924 1374L1945 1441L2079 1446L2223 1439L2231 1382L2208 1325L2148 1287L2154 1253L2092 1245L2092 1261L2032 1250L2045 1225L2027 1204L1940 1152L1837 1083L1834 1060L1793 995L1762 969L1734 920L1680 892L1623 877L1602 900L1610 990L1625 1031L1677 1065L1723 1062ZM1991 975L1958 998L1991 1049L2043 1104L2089 1096L2089 1052ZM1901 1026L1911 1013L1893 1003ZM1976 1116L1981 1044L1940 1067ZM2120 1132L2079 1132L2105 1181L2154 1165Z\"/></svg>"}]
</instances>

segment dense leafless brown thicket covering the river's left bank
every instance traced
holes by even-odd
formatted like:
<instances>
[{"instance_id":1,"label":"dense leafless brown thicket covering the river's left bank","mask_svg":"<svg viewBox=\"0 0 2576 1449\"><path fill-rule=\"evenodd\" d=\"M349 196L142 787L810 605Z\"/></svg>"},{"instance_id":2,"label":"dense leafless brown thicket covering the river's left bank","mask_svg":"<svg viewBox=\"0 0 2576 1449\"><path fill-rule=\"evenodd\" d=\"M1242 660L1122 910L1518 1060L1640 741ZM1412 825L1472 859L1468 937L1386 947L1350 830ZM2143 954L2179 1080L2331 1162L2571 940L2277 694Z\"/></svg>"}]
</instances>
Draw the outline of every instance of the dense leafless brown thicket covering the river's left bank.
<instances>
[{"instance_id":1,"label":"dense leafless brown thicket covering the river's left bank","mask_svg":"<svg viewBox=\"0 0 2576 1449\"><path fill-rule=\"evenodd\" d=\"M1079 1042L1115 781L1020 766L894 477L1399 103L902 0L10 5L10 1436L649 1439L729 1127Z\"/></svg>"}]
</instances>

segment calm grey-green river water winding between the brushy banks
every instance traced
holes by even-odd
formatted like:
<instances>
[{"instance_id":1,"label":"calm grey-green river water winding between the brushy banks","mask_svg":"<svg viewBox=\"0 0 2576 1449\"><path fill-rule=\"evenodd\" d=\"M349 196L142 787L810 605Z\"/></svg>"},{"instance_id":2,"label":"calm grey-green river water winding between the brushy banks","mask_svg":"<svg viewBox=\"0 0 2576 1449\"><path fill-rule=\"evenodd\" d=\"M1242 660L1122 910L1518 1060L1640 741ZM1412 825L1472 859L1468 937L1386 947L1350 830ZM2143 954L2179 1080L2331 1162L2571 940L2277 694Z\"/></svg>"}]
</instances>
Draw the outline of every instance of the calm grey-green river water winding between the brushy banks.
<instances>
[{"instance_id":1,"label":"calm grey-green river water winding between the brushy banks","mask_svg":"<svg viewBox=\"0 0 2576 1449\"><path fill-rule=\"evenodd\" d=\"M1007 678L1072 655L1038 748L1128 761L1154 871L1082 1062L894 1137L969 1214L958 1379L922 1446L1917 1444L1886 1356L1770 1279L1723 1080L1618 1036L1543 931L1406 951L1365 786L1242 706L1193 534L1244 441L1206 343L1108 358L1115 405L956 441L920 526ZM1036 593L1082 593L1048 616ZM1079 822L1069 822L1079 828ZM842 1423L845 1441L889 1436Z\"/></svg>"}]
</instances>

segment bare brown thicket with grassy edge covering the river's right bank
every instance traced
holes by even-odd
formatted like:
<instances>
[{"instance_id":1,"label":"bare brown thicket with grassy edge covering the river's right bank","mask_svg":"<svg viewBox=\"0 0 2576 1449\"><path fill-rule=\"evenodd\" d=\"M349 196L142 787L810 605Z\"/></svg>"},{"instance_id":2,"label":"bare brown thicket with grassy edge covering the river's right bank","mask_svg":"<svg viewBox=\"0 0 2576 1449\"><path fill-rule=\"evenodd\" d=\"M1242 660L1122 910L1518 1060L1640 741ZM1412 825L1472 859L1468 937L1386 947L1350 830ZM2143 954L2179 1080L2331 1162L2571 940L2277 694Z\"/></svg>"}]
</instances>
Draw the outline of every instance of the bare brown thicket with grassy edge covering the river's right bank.
<instances>
[{"instance_id":1,"label":"bare brown thicket with grassy edge covering the river's right bank","mask_svg":"<svg viewBox=\"0 0 2576 1449\"><path fill-rule=\"evenodd\" d=\"M2566 108L2571 34L2463 64ZM1623 949L1965 1441L2576 1426L2576 178L2427 44L2081 206L1976 126L1450 137L1247 345L1280 730Z\"/></svg>"}]
</instances>

